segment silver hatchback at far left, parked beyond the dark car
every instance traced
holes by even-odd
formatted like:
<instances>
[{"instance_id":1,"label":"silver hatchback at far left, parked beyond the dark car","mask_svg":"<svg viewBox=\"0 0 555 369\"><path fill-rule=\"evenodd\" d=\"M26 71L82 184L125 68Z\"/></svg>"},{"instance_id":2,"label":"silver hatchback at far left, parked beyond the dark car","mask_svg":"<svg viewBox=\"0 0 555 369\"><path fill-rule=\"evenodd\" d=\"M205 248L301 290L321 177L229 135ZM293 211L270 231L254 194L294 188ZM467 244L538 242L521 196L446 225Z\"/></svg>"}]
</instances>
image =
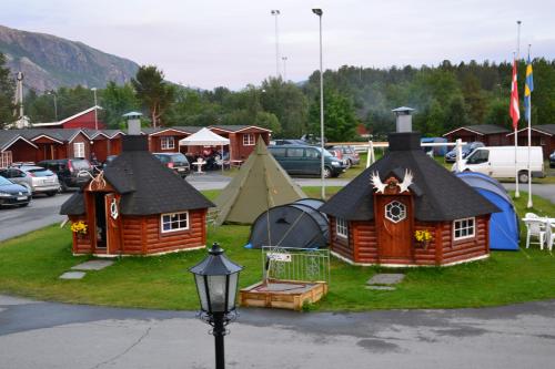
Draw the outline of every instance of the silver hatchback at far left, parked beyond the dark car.
<instances>
[{"instance_id":1,"label":"silver hatchback at far left, parked beyond the dark car","mask_svg":"<svg viewBox=\"0 0 555 369\"><path fill-rule=\"evenodd\" d=\"M20 166L0 170L0 175L31 189L33 195L54 196L60 191L58 176L42 166Z\"/></svg>"}]
</instances>

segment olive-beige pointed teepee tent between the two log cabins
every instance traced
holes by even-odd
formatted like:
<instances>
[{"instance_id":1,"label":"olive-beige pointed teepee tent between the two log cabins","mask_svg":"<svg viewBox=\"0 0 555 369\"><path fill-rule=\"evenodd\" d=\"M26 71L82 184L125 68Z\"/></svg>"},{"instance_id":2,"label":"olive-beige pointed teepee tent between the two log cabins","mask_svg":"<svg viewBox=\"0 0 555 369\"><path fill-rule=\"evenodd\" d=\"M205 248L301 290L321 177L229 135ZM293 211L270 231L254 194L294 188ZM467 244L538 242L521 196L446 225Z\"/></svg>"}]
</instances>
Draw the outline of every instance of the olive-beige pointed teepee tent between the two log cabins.
<instances>
[{"instance_id":1,"label":"olive-beige pointed teepee tent between the two log cabins","mask_svg":"<svg viewBox=\"0 0 555 369\"><path fill-rule=\"evenodd\" d=\"M215 199L215 225L251 224L270 207L293 203L306 195L275 158L268 152L262 137L241 166L239 174Z\"/></svg>"}]
</instances>

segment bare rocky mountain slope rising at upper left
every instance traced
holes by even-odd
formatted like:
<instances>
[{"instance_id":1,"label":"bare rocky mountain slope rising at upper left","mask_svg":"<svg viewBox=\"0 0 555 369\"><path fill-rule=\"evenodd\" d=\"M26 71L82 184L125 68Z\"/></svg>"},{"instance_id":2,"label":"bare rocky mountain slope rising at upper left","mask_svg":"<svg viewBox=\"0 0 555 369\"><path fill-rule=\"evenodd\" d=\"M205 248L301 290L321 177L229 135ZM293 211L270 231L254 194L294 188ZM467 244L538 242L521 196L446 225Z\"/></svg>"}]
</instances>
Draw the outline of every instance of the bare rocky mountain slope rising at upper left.
<instances>
[{"instance_id":1,"label":"bare rocky mountain slope rising at upper left","mask_svg":"<svg viewBox=\"0 0 555 369\"><path fill-rule=\"evenodd\" d=\"M23 83L37 91L59 86L103 88L109 81L124 83L139 65L51 34L20 31L0 25L0 52L13 73L23 72Z\"/></svg>"}]
</instances>

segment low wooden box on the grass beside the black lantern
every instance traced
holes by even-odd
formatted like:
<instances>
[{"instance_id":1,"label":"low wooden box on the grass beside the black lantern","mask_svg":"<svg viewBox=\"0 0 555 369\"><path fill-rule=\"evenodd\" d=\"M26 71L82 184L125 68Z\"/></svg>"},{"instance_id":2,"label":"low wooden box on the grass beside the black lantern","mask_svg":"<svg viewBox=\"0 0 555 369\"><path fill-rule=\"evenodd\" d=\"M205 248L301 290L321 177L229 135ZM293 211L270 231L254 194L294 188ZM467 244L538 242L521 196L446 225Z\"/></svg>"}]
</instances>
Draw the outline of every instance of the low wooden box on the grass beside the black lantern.
<instances>
[{"instance_id":1,"label":"low wooden box on the grass beside the black lantern","mask_svg":"<svg viewBox=\"0 0 555 369\"><path fill-rule=\"evenodd\" d=\"M301 310L304 304L319 301L327 294L325 281L271 280L260 281L239 293L239 304L248 307L266 307Z\"/></svg>"}]
</instances>

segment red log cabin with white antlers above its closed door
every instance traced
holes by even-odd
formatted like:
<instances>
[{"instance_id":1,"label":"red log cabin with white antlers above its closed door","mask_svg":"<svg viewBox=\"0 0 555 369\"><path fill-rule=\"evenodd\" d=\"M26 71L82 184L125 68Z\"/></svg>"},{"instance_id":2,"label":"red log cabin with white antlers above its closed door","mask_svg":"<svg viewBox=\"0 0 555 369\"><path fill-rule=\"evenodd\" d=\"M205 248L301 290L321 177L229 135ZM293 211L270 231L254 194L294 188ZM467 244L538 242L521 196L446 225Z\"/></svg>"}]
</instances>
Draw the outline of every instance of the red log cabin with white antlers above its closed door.
<instances>
[{"instance_id":1,"label":"red log cabin with white antlers above its closed door","mask_svg":"<svg viewBox=\"0 0 555 369\"><path fill-rule=\"evenodd\" d=\"M390 134L389 153L320 208L330 247L356 265L453 265L490 255L500 209L428 157L418 133ZM418 242L417 234L430 239Z\"/></svg>"}]
</instances>

